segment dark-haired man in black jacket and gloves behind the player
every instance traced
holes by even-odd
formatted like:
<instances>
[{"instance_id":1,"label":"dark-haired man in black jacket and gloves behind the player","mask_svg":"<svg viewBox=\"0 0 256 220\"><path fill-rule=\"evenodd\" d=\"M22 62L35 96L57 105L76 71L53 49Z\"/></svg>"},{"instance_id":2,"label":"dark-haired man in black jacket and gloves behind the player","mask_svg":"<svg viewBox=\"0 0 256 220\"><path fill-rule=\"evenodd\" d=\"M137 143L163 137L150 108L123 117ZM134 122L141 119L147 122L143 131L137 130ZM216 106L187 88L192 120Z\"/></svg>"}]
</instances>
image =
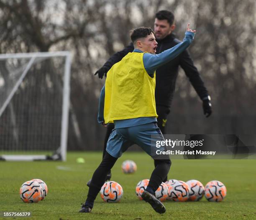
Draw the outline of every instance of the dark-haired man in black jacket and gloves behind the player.
<instances>
[{"instance_id":1,"label":"dark-haired man in black jacket and gloves behind the player","mask_svg":"<svg viewBox=\"0 0 256 220\"><path fill-rule=\"evenodd\" d=\"M162 51L172 48L173 46L181 42L177 38L175 38L174 34L172 33L174 29L175 23L174 15L172 12L167 10L161 10L156 13L156 18L154 22L154 31L158 43L158 46L156 48L156 54L160 54ZM133 50L133 43L131 43L122 51L119 51L111 56L110 59L108 59L108 61L103 65L103 67L97 70L95 75L98 74L98 77L102 79L104 75L107 75L108 70L115 63L119 62L126 54L132 52ZM157 125L163 134L166 134L165 128L167 122L167 115L170 112L179 66L184 69L184 72L189 78L189 81L191 82L192 86L195 88L197 94L202 100L203 112L205 116L209 117L212 113L210 96L208 95L207 89L204 86L204 83L199 75L199 72L197 71L197 68L194 66L193 61L190 58L188 51L184 51L175 59L156 70L155 98L156 112L159 115L159 117L157 118ZM113 128L113 124L110 124L107 127L103 157L105 155L108 137L110 136ZM110 179L110 177L111 174L108 175L108 179ZM166 180L167 177L164 181Z\"/></svg>"}]
</instances>

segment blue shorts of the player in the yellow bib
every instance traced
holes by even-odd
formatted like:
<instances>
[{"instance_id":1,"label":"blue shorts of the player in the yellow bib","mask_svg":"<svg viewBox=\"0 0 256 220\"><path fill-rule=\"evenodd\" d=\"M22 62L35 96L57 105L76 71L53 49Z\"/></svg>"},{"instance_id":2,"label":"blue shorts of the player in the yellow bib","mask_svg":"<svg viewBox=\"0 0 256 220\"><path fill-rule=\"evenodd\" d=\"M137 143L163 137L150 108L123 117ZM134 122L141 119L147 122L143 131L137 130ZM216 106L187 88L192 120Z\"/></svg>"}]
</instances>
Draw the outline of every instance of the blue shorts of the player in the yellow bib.
<instances>
[{"instance_id":1,"label":"blue shorts of the player in the yellow bib","mask_svg":"<svg viewBox=\"0 0 256 220\"><path fill-rule=\"evenodd\" d=\"M157 150L165 150L162 146L157 148L156 141L164 141L164 136L156 122L128 128L116 128L112 130L108 138L106 150L111 156L118 158L130 146L137 144L155 159Z\"/></svg>"}]
</instances>

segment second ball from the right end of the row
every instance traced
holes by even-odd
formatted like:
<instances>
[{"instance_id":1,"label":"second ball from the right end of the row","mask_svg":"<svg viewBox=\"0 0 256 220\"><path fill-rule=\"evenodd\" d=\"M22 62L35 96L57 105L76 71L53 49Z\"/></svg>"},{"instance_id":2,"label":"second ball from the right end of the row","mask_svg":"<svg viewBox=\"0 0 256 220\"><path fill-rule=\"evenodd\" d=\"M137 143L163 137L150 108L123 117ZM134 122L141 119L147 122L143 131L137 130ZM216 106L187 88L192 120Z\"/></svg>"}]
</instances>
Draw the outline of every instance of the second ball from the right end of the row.
<instances>
[{"instance_id":1,"label":"second ball from the right end of the row","mask_svg":"<svg viewBox=\"0 0 256 220\"><path fill-rule=\"evenodd\" d=\"M203 184L195 179L186 182L189 185L189 200L199 201L205 194L205 187Z\"/></svg>"}]
</instances>

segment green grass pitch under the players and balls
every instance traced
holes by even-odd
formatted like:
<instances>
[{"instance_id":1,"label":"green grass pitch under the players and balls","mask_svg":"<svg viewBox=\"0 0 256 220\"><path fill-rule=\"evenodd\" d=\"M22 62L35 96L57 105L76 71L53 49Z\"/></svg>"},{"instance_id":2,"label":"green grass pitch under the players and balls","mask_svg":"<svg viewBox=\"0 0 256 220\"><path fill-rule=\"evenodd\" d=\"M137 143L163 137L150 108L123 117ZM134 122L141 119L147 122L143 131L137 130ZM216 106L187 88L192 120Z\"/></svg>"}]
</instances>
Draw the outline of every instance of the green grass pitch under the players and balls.
<instances>
[{"instance_id":1,"label":"green grass pitch under the players and balls","mask_svg":"<svg viewBox=\"0 0 256 220\"><path fill-rule=\"evenodd\" d=\"M98 195L92 213L79 213L80 203L88 192L86 182L100 163L101 155L70 152L67 162L0 161L0 212L31 212L31 220L256 219L255 160L172 160L169 179L197 179L204 185L219 180L227 187L227 196L223 202L208 202L205 198L200 202L164 202L166 213L159 215L135 194L136 184L149 179L154 167L153 160L143 152L124 153L112 170L112 180L124 191L120 203L105 203ZM78 157L83 157L85 163L77 164ZM136 173L122 173L120 167L125 159L136 162ZM19 189L23 182L34 178L44 180L49 193L43 201L26 204L20 200Z\"/></svg>"}]
</instances>

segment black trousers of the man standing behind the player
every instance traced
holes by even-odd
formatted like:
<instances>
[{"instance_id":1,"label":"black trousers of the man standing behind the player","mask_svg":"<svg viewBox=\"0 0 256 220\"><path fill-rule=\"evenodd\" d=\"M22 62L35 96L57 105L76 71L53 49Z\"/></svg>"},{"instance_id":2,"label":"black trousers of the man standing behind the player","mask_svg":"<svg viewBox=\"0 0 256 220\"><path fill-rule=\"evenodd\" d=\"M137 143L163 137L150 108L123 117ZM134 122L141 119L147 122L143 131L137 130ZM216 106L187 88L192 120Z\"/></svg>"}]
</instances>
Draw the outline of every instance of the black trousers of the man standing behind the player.
<instances>
[{"instance_id":1,"label":"black trousers of the man standing behind the player","mask_svg":"<svg viewBox=\"0 0 256 220\"><path fill-rule=\"evenodd\" d=\"M170 109L169 109L169 107L166 107L166 106L163 106L163 105L156 105L156 113L158 115L157 126L160 128L162 134L166 134L167 115L170 113ZM102 158L104 158L104 156L105 156L107 143L108 143L108 138L109 138L109 136L110 136L110 134L111 134L111 132L114 128L115 128L115 126L114 126L113 123L110 123L107 127ZM158 165L158 163L159 163L159 160L154 160L155 167ZM166 182L167 179L168 179L168 177L166 175L163 182Z\"/></svg>"}]
</instances>

